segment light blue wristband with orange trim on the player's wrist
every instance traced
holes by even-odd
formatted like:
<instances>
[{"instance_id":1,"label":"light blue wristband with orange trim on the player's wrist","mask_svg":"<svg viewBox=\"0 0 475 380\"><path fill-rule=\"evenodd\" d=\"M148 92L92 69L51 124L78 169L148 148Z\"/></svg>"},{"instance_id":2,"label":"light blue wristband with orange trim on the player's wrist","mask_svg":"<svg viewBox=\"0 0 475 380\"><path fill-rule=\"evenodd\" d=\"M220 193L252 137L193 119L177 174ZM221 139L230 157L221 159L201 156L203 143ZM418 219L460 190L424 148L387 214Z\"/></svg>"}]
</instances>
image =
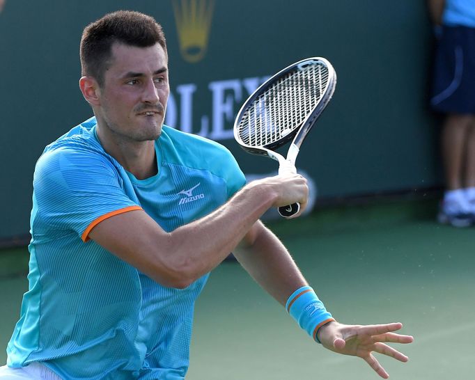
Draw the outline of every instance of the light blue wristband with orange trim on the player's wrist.
<instances>
[{"instance_id":1,"label":"light blue wristband with orange trim on the player's wrist","mask_svg":"<svg viewBox=\"0 0 475 380\"><path fill-rule=\"evenodd\" d=\"M318 343L320 343L317 337L318 329L335 320L309 286L300 287L288 297L286 310Z\"/></svg>"}]
</instances>

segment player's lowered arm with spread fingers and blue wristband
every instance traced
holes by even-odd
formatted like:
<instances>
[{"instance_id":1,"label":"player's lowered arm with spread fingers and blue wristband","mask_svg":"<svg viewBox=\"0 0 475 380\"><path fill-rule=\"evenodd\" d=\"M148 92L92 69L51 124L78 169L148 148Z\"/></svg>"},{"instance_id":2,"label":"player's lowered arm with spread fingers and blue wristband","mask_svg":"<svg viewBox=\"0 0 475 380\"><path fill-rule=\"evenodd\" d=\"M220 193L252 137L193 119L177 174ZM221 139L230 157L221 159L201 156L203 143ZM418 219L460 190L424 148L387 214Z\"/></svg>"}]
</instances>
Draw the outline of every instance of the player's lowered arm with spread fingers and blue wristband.
<instances>
[{"instance_id":1,"label":"player's lowered arm with spread fingers and blue wristband","mask_svg":"<svg viewBox=\"0 0 475 380\"><path fill-rule=\"evenodd\" d=\"M364 326L347 325L334 321L323 324L320 328L318 328L318 322L315 322L316 326L312 327L313 312L298 310L298 308L304 308L305 305L309 305L309 302L315 301L310 305L315 303L318 308L323 308L325 312L326 310L322 303L318 304L320 301L308 286L286 247L262 222L257 221L254 224L234 255L251 277L281 305L286 306L287 310L291 310L289 305L293 305L291 313L293 317L299 320L301 326L304 325L302 328L306 329L309 335L312 335L312 328L315 328L313 338L321 342L323 347L338 354L358 356L364 359L384 379L387 379L389 374L373 356L373 351L391 356L398 361L406 362L408 360L407 356L386 344L387 342L412 342L412 336L394 333L402 328L403 325L400 323ZM299 296L295 296L296 290L302 289L304 291L299 294L304 294L304 296L299 300L306 298L309 301L306 303L295 302ZM320 309L318 313L321 314L322 310Z\"/></svg>"}]
</instances>

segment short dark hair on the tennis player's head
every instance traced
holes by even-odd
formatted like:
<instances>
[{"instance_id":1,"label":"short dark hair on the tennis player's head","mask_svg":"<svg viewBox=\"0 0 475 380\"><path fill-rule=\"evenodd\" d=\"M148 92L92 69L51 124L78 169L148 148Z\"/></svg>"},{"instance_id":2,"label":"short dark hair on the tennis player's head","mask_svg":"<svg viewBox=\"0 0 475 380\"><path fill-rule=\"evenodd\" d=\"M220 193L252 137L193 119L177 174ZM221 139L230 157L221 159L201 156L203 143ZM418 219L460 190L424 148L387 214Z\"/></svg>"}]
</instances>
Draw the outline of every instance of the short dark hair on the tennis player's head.
<instances>
[{"instance_id":1,"label":"short dark hair on the tennis player's head","mask_svg":"<svg viewBox=\"0 0 475 380\"><path fill-rule=\"evenodd\" d=\"M108 13L86 26L79 49L81 74L95 78L99 86L104 85L114 42L135 47L150 47L158 42L166 53L162 26L153 17L131 10Z\"/></svg>"}]
</instances>

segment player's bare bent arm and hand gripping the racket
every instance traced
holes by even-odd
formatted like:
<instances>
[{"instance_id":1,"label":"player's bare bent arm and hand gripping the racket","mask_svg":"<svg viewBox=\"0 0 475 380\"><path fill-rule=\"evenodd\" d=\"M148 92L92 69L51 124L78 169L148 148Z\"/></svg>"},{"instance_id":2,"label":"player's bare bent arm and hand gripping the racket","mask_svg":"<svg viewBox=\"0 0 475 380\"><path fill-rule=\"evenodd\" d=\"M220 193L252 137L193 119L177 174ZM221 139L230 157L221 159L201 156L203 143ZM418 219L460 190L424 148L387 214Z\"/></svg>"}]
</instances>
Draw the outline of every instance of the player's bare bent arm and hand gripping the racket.
<instances>
[{"instance_id":1,"label":"player's bare bent arm and hand gripping the racket","mask_svg":"<svg viewBox=\"0 0 475 380\"><path fill-rule=\"evenodd\" d=\"M183 288L217 267L267 209L299 202L302 213L307 196L303 177L278 175L251 182L208 216L172 232L134 210L101 221L88 237L157 283Z\"/></svg>"}]
</instances>

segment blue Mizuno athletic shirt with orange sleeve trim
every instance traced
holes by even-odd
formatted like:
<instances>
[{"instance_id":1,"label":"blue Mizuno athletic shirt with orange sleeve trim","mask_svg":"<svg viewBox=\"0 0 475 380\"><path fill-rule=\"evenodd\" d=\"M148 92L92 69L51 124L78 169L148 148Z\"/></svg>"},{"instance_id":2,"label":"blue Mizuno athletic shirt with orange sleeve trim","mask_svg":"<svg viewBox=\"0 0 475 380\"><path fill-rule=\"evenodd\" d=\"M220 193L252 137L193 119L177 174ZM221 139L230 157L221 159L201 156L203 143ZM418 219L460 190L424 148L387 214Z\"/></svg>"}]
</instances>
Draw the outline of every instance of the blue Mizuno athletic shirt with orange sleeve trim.
<instances>
[{"instance_id":1,"label":"blue Mizuno athletic shirt with orange sleeve trim","mask_svg":"<svg viewBox=\"0 0 475 380\"><path fill-rule=\"evenodd\" d=\"M244 175L223 146L164 125L158 173L137 180L104 151L95 125L71 129L36 164L29 291L7 364L40 361L65 379L184 379L194 302L209 274L164 287L88 232L132 209L172 231L224 204Z\"/></svg>"}]
</instances>

